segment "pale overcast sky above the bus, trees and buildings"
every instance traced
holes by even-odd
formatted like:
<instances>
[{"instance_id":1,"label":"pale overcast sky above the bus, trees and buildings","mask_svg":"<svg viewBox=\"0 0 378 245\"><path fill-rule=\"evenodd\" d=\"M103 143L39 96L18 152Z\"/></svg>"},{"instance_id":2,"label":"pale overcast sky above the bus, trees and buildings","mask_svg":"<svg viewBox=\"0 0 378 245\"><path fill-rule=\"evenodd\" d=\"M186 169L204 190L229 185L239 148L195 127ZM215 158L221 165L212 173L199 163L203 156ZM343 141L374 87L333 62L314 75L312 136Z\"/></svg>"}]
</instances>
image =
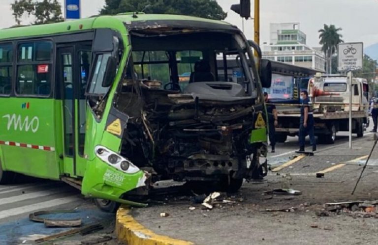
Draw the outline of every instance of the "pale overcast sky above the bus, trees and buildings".
<instances>
[{"instance_id":1,"label":"pale overcast sky above the bus, trees and buildings","mask_svg":"<svg viewBox=\"0 0 378 245\"><path fill-rule=\"evenodd\" d=\"M10 4L14 0L0 0L0 28L15 24ZM63 0L59 0L62 2ZM95 15L105 0L82 0L82 15ZM224 11L228 12L226 21L242 27L240 17L230 9L239 0L218 0ZM252 0L253 2L253 0ZM261 43L269 42L269 24L299 22L301 30L307 34L310 46L319 46L317 31L323 24L342 27L344 41L363 41L365 47L378 43L376 20L378 0L261 0ZM252 10L253 13L253 10ZM28 24L30 21L25 21ZM245 25L248 38L253 38L253 20Z\"/></svg>"}]
</instances>

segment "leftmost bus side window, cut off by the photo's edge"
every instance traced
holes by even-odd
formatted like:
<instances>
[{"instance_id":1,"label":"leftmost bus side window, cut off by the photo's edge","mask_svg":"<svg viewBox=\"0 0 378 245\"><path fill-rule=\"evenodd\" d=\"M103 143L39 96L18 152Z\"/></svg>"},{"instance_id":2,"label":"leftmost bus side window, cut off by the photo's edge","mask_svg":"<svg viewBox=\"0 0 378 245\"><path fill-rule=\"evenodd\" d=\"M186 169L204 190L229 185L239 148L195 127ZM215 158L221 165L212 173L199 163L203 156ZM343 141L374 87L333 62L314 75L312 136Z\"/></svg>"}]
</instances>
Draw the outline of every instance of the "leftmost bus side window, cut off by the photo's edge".
<instances>
[{"instance_id":1,"label":"leftmost bus side window, cut off by the photo's edge","mask_svg":"<svg viewBox=\"0 0 378 245\"><path fill-rule=\"evenodd\" d=\"M13 46L0 44L0 94L9 95L12 91Z\"/></svg>"}]
</instances>

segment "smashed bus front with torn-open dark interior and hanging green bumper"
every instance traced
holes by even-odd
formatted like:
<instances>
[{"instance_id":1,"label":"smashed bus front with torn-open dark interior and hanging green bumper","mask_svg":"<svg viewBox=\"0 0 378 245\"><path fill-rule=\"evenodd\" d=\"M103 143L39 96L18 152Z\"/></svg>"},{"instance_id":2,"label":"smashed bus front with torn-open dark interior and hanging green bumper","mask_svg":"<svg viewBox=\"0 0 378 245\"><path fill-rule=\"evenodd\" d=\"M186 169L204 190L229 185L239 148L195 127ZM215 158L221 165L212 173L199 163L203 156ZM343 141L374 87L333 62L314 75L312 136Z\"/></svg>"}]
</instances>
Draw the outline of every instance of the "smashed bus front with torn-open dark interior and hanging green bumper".
<instances>
[{"instance_id":1,"label":"smashed bus front with torn-open dark interior and hanging green bumper","mask_svg":"<svg viewBox=\"0 0 378 245\"><path fill-rule=\"evenodd\" d=\"M117 49L94 53L86 138L93 152L82 192L125 202L162 180L237 191L244 178L261 179L261 91L271 70L268 61L255 64L242 32L182 16L115 18L127 34L114 36Z\"/></svg>"}]
</instances>

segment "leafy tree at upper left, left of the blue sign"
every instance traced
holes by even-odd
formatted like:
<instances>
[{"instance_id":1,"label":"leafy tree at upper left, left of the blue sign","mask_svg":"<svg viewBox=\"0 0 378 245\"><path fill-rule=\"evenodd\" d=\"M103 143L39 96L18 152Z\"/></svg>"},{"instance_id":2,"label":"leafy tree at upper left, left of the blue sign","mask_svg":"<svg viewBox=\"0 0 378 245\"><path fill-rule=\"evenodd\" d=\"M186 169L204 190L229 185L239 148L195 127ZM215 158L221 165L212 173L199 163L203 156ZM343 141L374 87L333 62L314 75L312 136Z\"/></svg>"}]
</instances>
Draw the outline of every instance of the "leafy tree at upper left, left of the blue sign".
<instances>
[{"instance_id":1,"label":"leafy tree at upper left, left of the blue sign","mask_svg":"<svg viewBox=\"0 0 378 245\"><path fill-rule=\"evenodd\" d=\"M14 19L21 25L24 15L34 16L33 25L49 24L63 21L62 6L58 0L15 0L11 4Z\"/></svg>"}]
</instances>

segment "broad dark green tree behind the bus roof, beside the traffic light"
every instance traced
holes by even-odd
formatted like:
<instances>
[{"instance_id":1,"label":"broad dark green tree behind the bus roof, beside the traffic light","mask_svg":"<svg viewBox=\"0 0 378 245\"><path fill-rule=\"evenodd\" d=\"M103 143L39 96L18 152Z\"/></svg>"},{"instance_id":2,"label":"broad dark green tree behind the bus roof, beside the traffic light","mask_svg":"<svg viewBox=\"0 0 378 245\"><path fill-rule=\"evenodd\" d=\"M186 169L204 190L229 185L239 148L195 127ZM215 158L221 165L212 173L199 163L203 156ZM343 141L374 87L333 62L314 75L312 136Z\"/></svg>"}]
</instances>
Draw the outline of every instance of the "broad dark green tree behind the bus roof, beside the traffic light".
<instances>
[{"instance_id":1,"label":"broad dark green tree behind the bus roof, beside the traffic light","mask_svg":"<svg viewBox=\"0 0 378 245\"><path fill-rule=\"evenodd\" d=\"M224 20L227 17L216 0L105 0L100 13L137 11L147 14L191 15L214 20Z\"/></svg>"}]
</instances>

